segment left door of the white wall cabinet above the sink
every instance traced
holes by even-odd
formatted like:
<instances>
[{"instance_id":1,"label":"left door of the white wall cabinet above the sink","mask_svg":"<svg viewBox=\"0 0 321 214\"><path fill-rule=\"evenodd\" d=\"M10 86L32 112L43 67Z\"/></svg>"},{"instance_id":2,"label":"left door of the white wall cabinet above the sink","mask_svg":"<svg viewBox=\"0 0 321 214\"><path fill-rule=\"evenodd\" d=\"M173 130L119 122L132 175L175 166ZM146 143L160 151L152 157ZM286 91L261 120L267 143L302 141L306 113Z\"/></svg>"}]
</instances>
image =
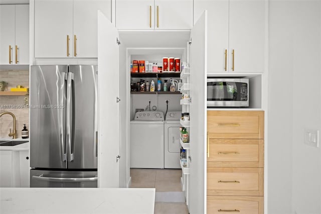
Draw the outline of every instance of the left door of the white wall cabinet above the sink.
<instances>
[{"instance_id":1,"label":"left door of the white wall cabinet above the sink","mask_svg":"<svg viewBox=\"0 0 321 214\"><path fill-rule=\"evenodd\" d=\"M0 5L0 64L14 64L15 6ZM11 46L11 49L9 48Z\"/></svg>"}]
</instances>

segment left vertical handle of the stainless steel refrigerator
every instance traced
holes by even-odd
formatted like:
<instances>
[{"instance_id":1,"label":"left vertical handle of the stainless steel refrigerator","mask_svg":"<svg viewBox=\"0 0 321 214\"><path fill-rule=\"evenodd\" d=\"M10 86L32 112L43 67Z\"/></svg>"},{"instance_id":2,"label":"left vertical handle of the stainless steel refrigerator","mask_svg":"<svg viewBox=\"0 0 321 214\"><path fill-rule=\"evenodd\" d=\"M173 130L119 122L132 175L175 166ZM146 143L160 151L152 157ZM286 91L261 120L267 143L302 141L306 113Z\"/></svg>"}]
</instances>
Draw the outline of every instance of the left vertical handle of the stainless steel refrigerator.
<instances>
[{"instance_id":1,"label":"left vertical handle of the stainless steel refrigerator","mask_svg":"<svg viewBox=\"0 0 321 214\"><path fill-rule=\"evenodd\" d=\"M58 106L58 120L59 120L59 139L60 139L60 145L62 148L61 154L62 154L62 161L65 162L67 160L67 153L66 153L66 144L64 141L64 94L65 94L65 87L66 87L66 81L67 81L67 73L63 73L60 76L60 91L59 91L59 106Z\"/></svg>"}]
</instances>

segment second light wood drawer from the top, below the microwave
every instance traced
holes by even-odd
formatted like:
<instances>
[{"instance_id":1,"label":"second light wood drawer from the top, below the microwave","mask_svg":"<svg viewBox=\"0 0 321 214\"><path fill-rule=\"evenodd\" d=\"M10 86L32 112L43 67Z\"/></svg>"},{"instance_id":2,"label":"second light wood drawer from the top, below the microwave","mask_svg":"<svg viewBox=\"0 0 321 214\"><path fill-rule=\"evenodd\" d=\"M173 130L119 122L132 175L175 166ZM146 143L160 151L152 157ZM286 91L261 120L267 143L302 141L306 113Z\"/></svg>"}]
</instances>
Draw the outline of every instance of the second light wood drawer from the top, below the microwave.
<instances>
[{"instance_id":1,"label":"second light wood drawer from the top, below the microwave","mask_svg":"<svg viewBox=\"0 0 321 214\"><path fill-rule=\"evenodd\" d=\"M207 165L212 167L263 167L264 141L210 139Z\"/></svg>"}]
</instances>

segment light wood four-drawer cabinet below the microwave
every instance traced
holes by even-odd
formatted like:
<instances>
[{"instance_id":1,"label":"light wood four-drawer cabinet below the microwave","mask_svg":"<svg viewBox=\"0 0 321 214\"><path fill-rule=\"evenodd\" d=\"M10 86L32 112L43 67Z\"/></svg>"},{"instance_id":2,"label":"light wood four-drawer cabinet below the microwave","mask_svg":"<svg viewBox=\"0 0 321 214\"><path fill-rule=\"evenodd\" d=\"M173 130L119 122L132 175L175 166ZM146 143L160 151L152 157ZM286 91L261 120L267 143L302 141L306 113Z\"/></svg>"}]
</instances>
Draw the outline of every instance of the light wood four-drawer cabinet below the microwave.
<instances>
[{"instance_id":1,"label":"light wood four-drawer cabinet below the microwave","mask_svg":"<svg viewBox=\"0 0 321 214\"><path fill-rule=\"evenodd\" d=\"M264 112L207 112L207 213L264 213Z\"/></svg>"}]
</instances>

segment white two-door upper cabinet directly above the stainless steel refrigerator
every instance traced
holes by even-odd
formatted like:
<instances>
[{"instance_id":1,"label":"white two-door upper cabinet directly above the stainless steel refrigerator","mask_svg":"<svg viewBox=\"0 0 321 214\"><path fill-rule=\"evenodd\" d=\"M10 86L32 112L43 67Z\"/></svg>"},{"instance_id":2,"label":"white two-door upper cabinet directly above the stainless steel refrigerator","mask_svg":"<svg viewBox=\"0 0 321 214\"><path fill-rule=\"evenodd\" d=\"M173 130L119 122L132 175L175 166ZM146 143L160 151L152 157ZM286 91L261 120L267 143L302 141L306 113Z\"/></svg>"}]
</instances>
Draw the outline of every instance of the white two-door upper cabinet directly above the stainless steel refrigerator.
<instances>
[{"instance_id":1,"label":"white two-door upper cabinet directly above the stainless steel refrigerator","mask_svg":"<svg viewBox=\"0 0 321 214\"><path fill-rule=\"evenodd\" d=\"M97 57L97 10L111 19L111 0L36 0L35 57Z\"/></svg>"}]
</instances>

